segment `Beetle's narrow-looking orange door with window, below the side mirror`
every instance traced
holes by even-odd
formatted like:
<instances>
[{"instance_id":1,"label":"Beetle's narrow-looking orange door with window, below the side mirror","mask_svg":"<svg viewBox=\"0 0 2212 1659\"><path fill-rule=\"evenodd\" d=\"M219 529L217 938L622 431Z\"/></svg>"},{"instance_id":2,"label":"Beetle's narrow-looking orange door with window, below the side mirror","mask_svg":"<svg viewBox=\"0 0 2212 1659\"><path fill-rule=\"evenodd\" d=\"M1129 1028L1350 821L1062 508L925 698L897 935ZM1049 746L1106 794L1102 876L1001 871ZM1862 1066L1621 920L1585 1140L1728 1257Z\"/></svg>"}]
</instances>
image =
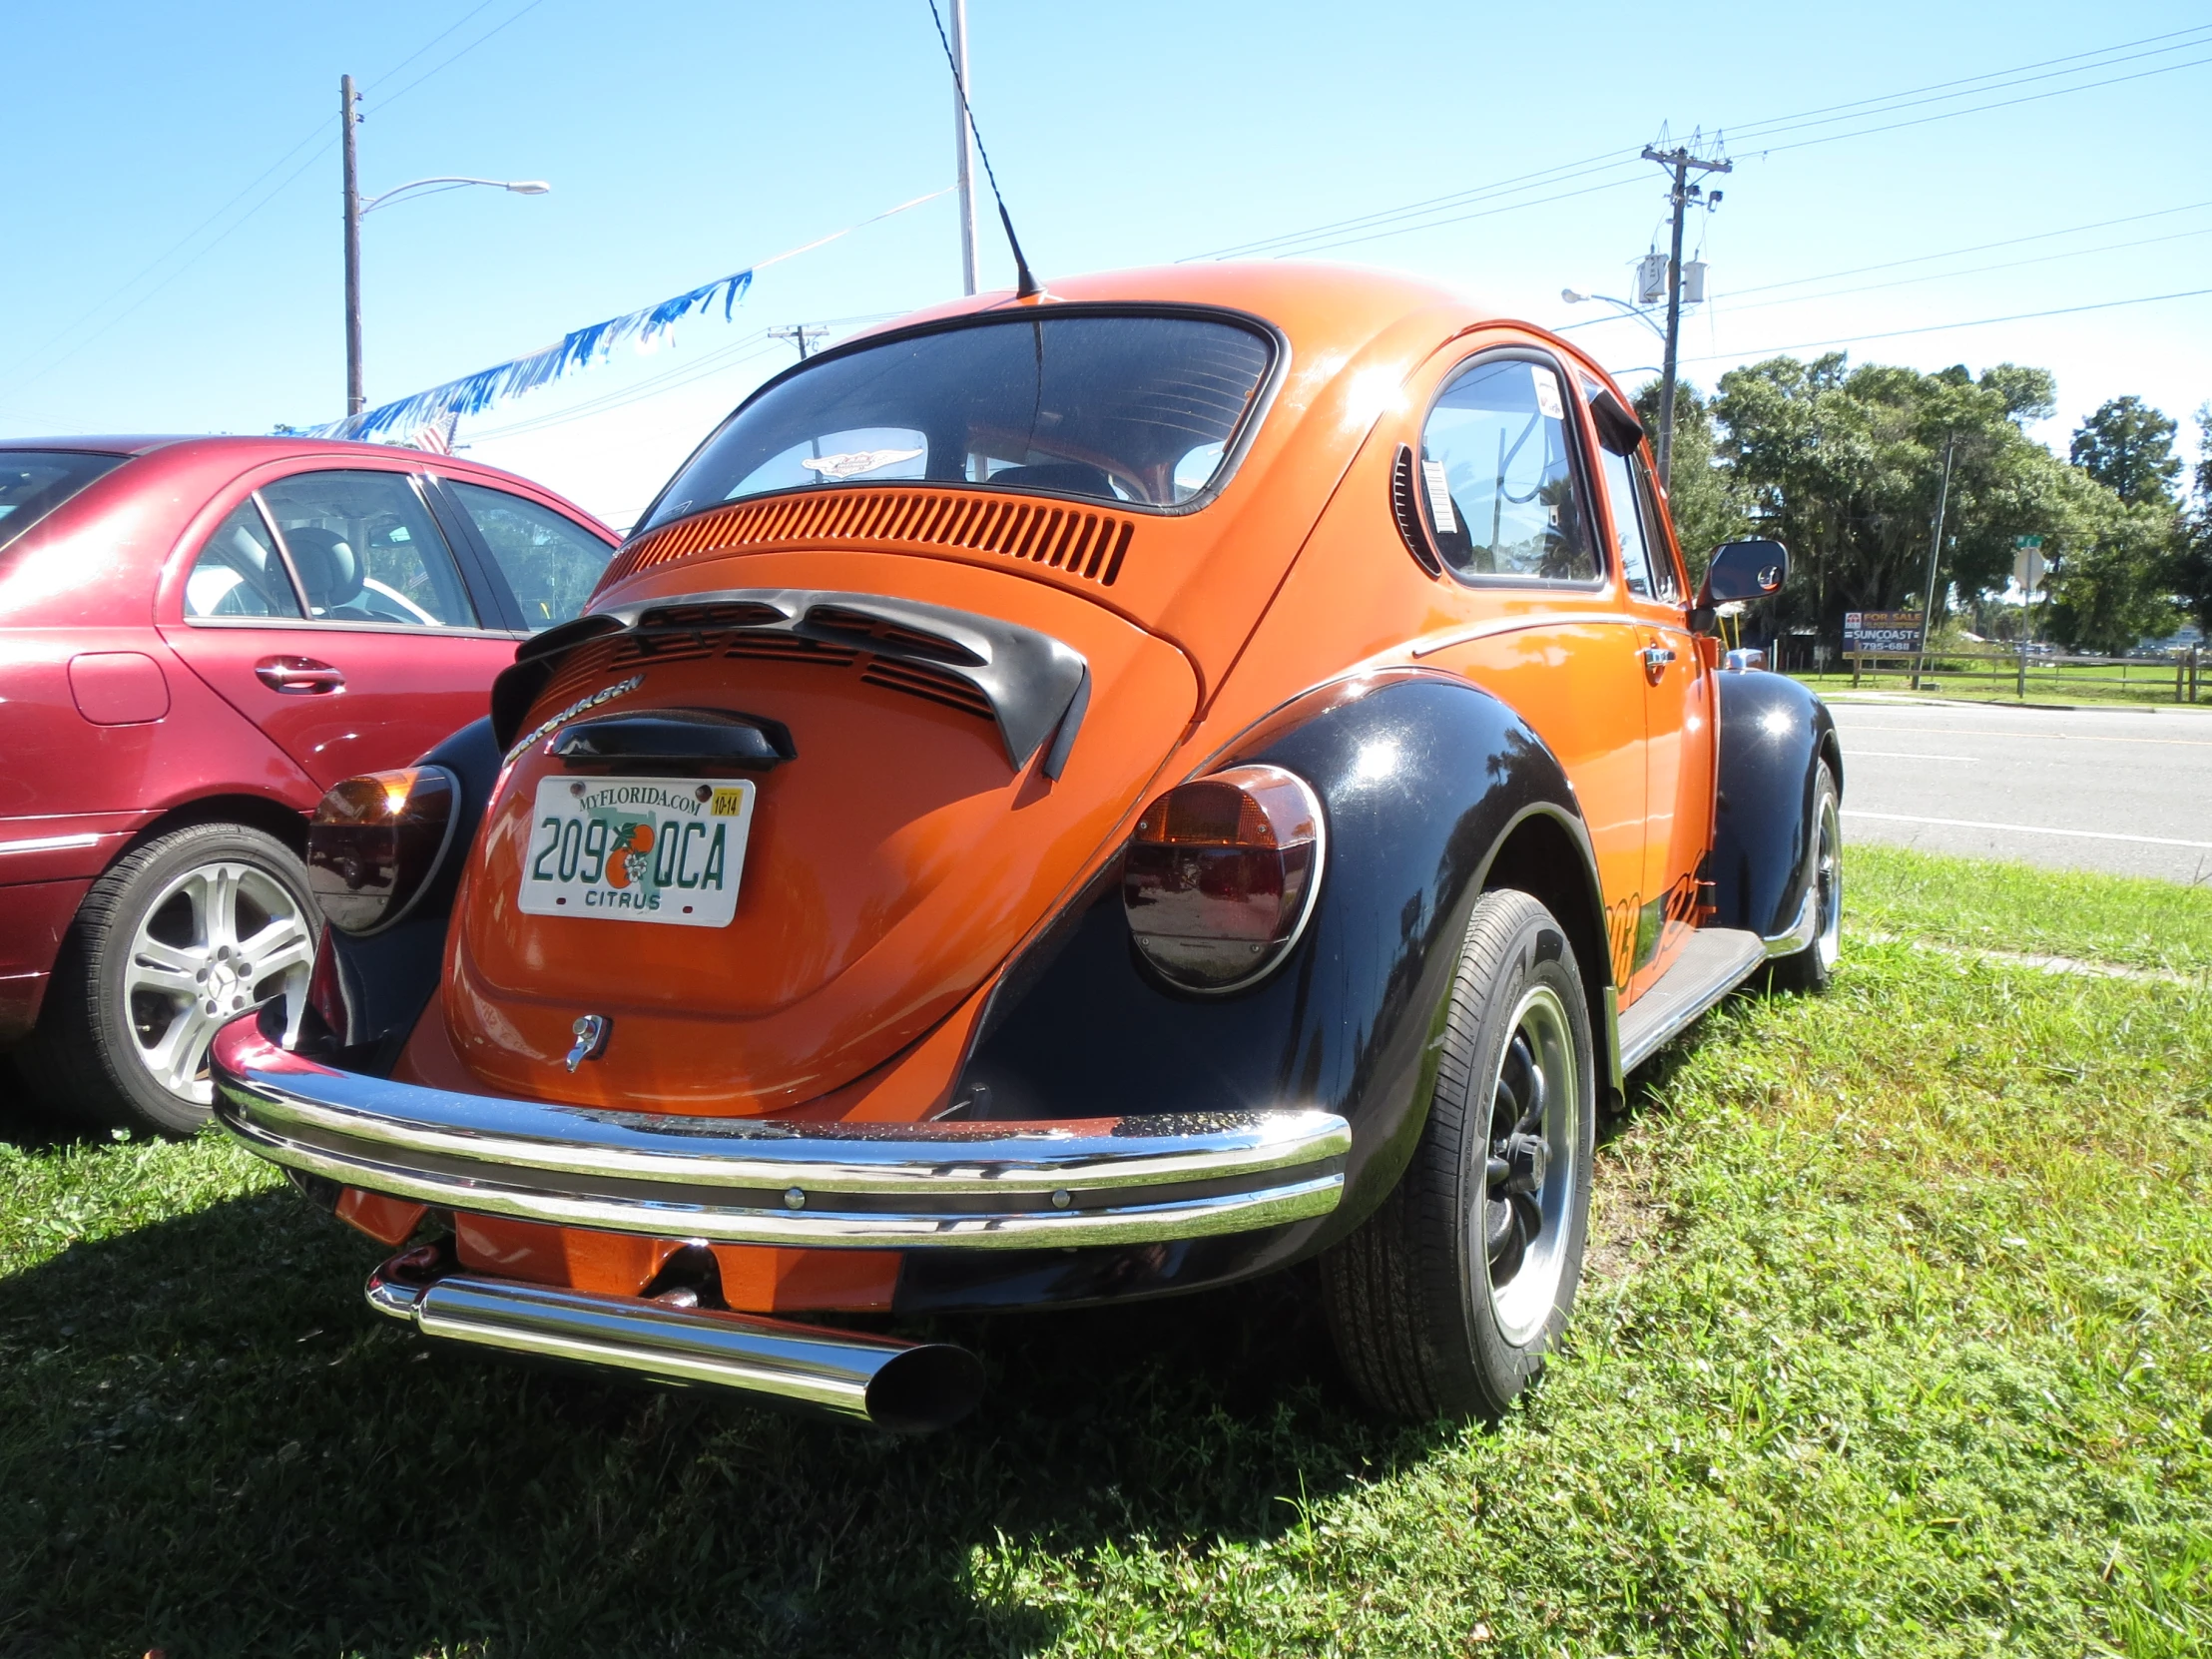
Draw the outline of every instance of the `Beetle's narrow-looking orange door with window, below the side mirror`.
<instances>
[{"instance_id":1,"label":"Beetle's narrow-looking orange door with window, below the side mirror","mask_svg":"<svg viewBox=\"0 0 2212 1659\"><path fill-rule=\"evenodd\" d=\"M1644 677L1644 905L1635 975L1666 969L1697 927L1699 865L1712 834L1712 681L1683 619L1681 575L1644 447L1599 449L1606 511Z\"/></svg>"}]
</instances>

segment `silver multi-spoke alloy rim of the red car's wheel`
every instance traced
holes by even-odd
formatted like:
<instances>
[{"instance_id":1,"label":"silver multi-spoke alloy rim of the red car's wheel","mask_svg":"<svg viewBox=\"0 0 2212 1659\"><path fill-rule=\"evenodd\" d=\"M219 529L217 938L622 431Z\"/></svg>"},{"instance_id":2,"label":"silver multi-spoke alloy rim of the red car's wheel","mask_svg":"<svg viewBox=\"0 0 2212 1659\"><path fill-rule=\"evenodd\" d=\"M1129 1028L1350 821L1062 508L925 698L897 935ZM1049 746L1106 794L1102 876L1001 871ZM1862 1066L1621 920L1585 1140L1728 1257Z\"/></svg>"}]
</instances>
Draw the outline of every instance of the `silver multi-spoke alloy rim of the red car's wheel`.
<instances>
[{"instance_id":1,"label":"silver multi-spoke alloy rim of the red car's wheel","mask_svg":"<svg viewBox=\"0 0 2212 1659\"><path fill-rule=\"evenodd\" d=\"M281 995L299 1031L314 969L314 922L272 874L243 860L192 865L146 907L124 964L124 1006L146 1073L210 1106L208 1044L248 1009Z\"/></svg>"}]
</instances>

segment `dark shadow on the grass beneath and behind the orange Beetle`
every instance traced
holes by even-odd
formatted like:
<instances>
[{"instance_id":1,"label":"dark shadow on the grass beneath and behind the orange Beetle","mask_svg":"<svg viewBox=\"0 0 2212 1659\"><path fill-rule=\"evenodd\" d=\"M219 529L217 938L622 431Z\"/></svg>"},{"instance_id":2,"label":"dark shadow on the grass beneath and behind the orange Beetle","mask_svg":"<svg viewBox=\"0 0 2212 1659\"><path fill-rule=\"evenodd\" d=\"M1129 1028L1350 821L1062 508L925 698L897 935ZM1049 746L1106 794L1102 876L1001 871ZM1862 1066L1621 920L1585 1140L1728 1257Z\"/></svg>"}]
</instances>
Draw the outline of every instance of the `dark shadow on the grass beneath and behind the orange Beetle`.
<instances>
[{"instance_id":1,"label":"dark shadow on the grass beneath and behind the orange Beetle","mask_svg":"<svg viewBox=\"0 0 2212 1659\"><path fill-rule=\"evenodd\" d=\"M1447 1436L1296 1279L958 1321L984 1409L889 1440L434 1349L376 1254L270 1190L7 1281L0 1655L1026 1652L978 1551L1272 1537Z\"/></svg>"}]
</instances>

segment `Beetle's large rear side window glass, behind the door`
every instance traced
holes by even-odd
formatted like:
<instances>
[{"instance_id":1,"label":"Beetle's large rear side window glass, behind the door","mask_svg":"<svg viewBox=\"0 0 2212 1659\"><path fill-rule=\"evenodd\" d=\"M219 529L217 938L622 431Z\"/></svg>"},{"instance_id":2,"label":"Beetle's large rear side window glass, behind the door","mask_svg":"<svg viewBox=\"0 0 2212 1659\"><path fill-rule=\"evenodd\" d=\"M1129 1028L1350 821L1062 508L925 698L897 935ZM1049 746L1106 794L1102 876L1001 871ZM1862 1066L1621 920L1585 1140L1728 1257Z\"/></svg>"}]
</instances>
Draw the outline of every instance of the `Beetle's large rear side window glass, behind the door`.
<instances>
[{"instance_id":1,"label":"Beetle's large rear side window glass, behind the door","mask_svg":"<svg viewBox=\"0 0 2212 1659\"><path fill-rule=\"evenodd\" d=\"M1420 498L1444 562L1467 577L1595 580L1573 442L1548 365L1493 356L1462 369L1420 429Z\"/></svg>"}]
</instances>

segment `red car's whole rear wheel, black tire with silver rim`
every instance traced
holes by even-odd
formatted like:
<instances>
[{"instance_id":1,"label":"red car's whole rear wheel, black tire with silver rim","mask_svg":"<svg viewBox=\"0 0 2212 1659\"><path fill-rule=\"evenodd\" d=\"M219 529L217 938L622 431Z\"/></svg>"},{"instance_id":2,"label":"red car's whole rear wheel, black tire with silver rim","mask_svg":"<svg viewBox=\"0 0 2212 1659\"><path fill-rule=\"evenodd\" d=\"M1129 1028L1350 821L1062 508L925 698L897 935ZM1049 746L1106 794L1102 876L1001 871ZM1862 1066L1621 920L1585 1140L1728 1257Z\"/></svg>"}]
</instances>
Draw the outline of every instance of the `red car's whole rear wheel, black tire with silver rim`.
<instances>
[{"instance_id":1,"label":"red car's whole rear wheel, black tire with silver rim","mask_svg":"<svg viewBox=\"0 0 2212 1659\"><path fill-rule=\"evenodd\" d=\"M86 1124L190 1135L215 1097L215 1031L272 995L296 1029L321 927L305 867L274 836L239 823L157 836L77 907L22 1066Z\"/></svg>"}]
</instances>

